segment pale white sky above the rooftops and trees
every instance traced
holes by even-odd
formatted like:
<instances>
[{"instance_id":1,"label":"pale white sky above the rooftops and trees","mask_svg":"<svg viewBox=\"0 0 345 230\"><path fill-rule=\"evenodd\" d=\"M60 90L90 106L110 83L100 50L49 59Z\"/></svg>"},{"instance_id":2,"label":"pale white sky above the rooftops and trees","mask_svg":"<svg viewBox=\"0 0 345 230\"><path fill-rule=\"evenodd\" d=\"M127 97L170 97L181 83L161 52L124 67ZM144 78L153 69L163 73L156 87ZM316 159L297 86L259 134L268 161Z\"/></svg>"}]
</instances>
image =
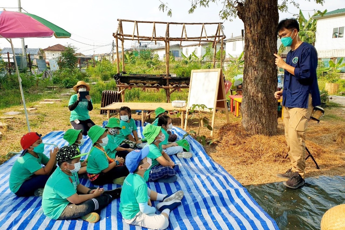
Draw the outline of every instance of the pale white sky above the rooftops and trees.
<instances>
[{"instance_id":1,"label":"pale white sky above the rooftops and trees","mask_svg":"<svg viewBox=\"0 0 345 230\"><path fill-rule=\"evenodd\" d=\"M231 35L241 35L244 29L243 22L238 18L233 21L224 21L219 18L222 6L210 3L209 8L197 8L193 14L188 14L191 0L162 0L172 10L172 17L166 12L159 11L160 0L21 0L22 11L36 14L59 27L70 32L71 39L52 38L27 38L25 44L28 48L42 48L55 44L76 46L77 52L83 54L99 54L111 52L112 42L115 39L112 33L116 31L117 19L138 21L163 21L163 22L224 22L224 33L227 38ZM282 0L278 0L282 2ZM314 0L296 0L299 8L307 18L308 13L314 10L328 11L342 8L344 0L326 0L324 6L316 4ZM18 11L18 0L0 1L0 10ZM289 5L288 12L279 12L279 20L291 18L298 14L299 9ZM133 33L133 24L123 24L124 33ZM200 36L201 25L187 27L187 35ZM215 34L216 27L206 27L207 34ZM170 35L181 36L182 26L171 25ZM214 32L213 32L214 31ZM157 36L165 36L165 28L156 27ZM139 34L151 36L152 25L139 24ZM73 39L73 40L72 40ZM75 41L74 41L75 40ZM13 39L15 48L21 48L21 40ZM82 44L85 43L85 44ZM130 48L132 41L125 42L124 48ZM186 45L187 43L185 43ZM184 43L182 43L184 45ZM10 47L6 39L0 38L0 48Z\"/></svg>"}]
</instances>

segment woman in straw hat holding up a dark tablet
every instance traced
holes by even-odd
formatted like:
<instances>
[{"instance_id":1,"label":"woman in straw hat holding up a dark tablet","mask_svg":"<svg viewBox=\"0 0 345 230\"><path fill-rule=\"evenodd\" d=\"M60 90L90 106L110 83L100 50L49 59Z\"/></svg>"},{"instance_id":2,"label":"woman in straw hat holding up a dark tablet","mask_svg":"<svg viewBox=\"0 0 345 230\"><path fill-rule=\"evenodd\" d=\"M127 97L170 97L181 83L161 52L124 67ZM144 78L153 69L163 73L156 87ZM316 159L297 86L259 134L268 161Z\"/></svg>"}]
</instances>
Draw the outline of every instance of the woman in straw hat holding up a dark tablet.
<instances>
[{"instance_id":1,"label":"woman in straw hat holding up a dark tablet","mask_svg":"<svg viewBox=\"0 0 345 230\"><path fill-rule=\"evenodd\" d=\"M89 111L93 109L90 95L86 95L87 102L79 101L79 92L90 91L90 86L85 81L79 81L73 90L77 92L71 96L68 108L71 111L70 122L74 129L82 130L83 135L87 135L89 129L95 125L90 119Z\"/></svg>"}]
</instances>

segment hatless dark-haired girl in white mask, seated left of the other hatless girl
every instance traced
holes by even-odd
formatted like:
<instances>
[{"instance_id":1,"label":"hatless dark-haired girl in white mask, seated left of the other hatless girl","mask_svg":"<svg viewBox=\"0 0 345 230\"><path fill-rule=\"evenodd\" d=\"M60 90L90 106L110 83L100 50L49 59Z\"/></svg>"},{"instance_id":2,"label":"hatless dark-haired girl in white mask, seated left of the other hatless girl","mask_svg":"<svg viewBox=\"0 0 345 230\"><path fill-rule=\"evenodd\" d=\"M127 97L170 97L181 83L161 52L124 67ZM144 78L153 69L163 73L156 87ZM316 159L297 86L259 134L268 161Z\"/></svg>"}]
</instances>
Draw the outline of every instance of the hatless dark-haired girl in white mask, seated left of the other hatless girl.
<instances>
[{"instance_id":1,"label":"hatless dark-haired girl in white mask, seated left of the other hatless girl","mask_svg":"<svg viewBox=\"0 0 345 230\"><path fill-rule=\"evenodd\" d=\"M134 119L132 119L132 113L130 108L122 106L120 108L120 134L118 138L124 138L124 141L120 144L128 144L130 148L134 149L138 143L142 143L141 139L138 138L137 126ZM132 136L133 133L133 136Z\"/></svg>"}]
</instances>

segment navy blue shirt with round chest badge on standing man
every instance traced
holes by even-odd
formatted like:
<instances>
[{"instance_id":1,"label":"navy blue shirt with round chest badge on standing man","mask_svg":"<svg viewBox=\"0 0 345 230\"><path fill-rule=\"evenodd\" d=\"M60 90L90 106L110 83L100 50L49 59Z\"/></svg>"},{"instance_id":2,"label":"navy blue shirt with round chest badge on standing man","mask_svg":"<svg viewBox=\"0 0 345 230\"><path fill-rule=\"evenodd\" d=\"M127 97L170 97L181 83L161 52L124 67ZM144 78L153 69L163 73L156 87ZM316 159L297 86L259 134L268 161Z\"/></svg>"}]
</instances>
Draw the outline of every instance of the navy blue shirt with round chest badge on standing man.
<instances>
[{"instance_id":1,"label":"navy blue shirt with round chest badge on standing man","mask_svg":"<svg viewBox=\"0 0 345 230\"><path fill-rule=\"evenodd\" d=\"M294 51L289 51L286 63L295 67L294 75L284 71L283 106L308 108L309 93L313 106L321 104L317 84L317 52L313 45L303 42Z\"/></svg>"}]
</instances>

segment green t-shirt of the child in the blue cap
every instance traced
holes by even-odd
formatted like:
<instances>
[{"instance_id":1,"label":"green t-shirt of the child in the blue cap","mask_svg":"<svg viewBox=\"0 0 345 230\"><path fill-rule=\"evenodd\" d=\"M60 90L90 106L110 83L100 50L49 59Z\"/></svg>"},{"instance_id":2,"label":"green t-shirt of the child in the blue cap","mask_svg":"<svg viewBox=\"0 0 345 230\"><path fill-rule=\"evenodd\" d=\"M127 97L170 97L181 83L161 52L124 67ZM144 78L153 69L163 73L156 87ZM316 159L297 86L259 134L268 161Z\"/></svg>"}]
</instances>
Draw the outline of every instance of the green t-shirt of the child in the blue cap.
<instances>
[{"instance_id":1,"label":"green t-shirt of the child in the blue cap","mask_svg":"<svg viewBox=\"0 0 345 230\"><path fill-rule=\"evenodd\" d=\"M147 184L139 174L130 173L122 185L119 211L124 219L132 219L140 211L139 203L148 201Z\"/></svg>"}]
</instances>

